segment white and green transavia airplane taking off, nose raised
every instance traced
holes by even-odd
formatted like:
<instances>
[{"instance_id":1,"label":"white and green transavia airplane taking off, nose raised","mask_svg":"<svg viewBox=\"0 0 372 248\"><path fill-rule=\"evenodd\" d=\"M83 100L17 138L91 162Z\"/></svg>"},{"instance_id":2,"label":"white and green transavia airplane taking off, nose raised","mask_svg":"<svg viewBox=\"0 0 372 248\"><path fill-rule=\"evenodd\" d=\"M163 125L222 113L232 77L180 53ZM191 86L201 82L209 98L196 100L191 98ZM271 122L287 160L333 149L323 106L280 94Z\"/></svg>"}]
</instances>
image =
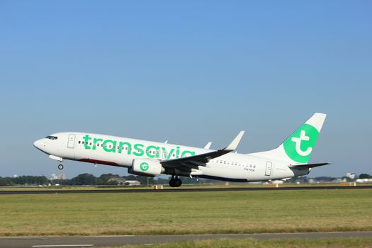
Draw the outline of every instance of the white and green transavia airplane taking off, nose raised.
<instances>
[{"instance_id":1,"label":"white and green transavia airplane taking off, nose raised","mask_svg":"<svg viewBox=\"0 0 372 248\"><path fill-rule=\"evenodd\" d=\"M304 176L313 167L308 164L326 114L315 113L274 150L239 154L235 152L244 135L241 131L227 147L210 150L173 145L168 142L135 140L95 133L54 133L36 140L33 145L60 162L64 159L128 168L139 176L171 176L169 186L182 184L179 176L196 176L222 181L271 181Z\"/></svg>"}]
</instances>

